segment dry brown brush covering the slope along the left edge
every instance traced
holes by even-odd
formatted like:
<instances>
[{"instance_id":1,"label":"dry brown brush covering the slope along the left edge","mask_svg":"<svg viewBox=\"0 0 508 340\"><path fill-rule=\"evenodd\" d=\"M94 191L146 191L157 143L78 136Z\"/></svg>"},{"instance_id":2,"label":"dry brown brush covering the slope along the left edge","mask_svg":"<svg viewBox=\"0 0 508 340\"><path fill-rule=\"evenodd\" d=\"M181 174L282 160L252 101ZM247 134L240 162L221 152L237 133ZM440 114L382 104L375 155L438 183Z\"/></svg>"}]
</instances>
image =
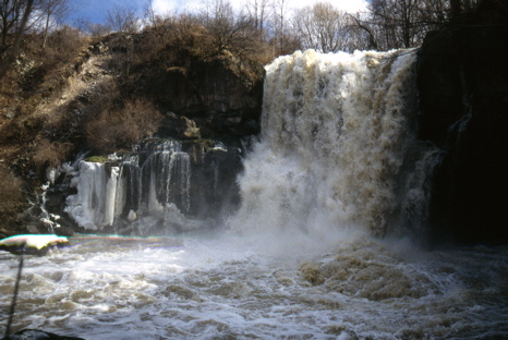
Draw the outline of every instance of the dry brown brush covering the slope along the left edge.
<instances>
[{"instance_id":1,"label":"dry brown brush covering the slope along the left edge","mask_svg":"<svg viewBox=\"0 0 508 340\"><path fill-rule=\"evenodd\" d=\"M87 42L87 37L71 27L49 33L46 47L41 35L25 34L0 82L0 162L10 167L0 169L0 216L10 232L17 226L16 216L27 201L25 194L31 194L22 187L37 187L38 180L44 180L32 174L57 166L73 148L61 139L68 131L55 129L61 125L56 122L65 120L66 112L46 108L59 98L69 76L86 60L80 51ZM0 52L0 61L9 53L12 50Z\"/></svg>"}]
</instances>

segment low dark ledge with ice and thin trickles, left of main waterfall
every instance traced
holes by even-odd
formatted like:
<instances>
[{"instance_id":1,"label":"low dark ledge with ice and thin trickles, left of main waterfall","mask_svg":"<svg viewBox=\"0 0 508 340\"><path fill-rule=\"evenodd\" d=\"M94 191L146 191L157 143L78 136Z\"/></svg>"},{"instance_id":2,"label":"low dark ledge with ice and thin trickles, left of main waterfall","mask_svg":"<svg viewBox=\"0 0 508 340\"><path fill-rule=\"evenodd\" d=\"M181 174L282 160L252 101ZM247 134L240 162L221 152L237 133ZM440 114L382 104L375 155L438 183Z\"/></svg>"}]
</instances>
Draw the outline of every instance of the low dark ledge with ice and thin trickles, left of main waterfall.
<instances>
[{"instance_id":1,"label":"low dark ledge with ice and thin trickles, left of main waterfall","mask_svg":"<svg viewBox=\"0 0 508 340\"><path fill-rule=\"evenodd\" d=\"M87 230L145 235L205 228L234 201L240 161L240 150L221 143L145 139L121 158L80 161L71 180L77 193L64 211Z\"/></svg>"}]
</instances>

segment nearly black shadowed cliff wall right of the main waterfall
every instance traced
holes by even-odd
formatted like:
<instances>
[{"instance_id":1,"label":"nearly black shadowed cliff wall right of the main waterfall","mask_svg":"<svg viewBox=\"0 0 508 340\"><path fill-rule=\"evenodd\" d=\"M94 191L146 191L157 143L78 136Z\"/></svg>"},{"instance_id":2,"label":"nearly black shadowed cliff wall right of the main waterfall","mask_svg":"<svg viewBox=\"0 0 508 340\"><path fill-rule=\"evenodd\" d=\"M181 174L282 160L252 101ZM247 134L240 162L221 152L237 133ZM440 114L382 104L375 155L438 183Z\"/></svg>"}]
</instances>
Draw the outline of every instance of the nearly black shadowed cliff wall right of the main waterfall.
<instances>
[{"instance_id":1,"label":"nearly black shadowed cliff wall right of the main waterfall","mask_svg":"<svg viewBox=\"0 0 508 340\"><path fill-rule=\"evenodd\" d=\"M419 51L419 134L443 150L431 202L435 240L508 242L506 23L506 4L484 2L428 34Z\"/></svg>"}]
</instances>

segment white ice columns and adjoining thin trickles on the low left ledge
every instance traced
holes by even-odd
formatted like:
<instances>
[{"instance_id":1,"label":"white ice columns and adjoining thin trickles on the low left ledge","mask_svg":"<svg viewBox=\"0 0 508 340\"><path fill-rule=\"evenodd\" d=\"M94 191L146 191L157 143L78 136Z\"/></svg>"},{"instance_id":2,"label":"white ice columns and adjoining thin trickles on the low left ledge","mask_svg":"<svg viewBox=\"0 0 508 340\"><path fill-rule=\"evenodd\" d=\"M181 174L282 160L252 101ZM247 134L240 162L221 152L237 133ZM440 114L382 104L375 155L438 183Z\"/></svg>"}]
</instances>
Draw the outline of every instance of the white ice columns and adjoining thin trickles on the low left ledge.
<instances>
[{"instance_id":1,"label":"white ice columns and adjoining thin trickles on the low left ledge","mask_svg":"<svg viewBox=\"0 0 508 340\"><path fill-rule=\"evenodd\" d=\"M77 193L68 196L65 212L80 227L102 230L122 215L131 221L141 215L164 223L184 220L182 214L190 208L190 156L176 141L148 141L138 148L146 157L143 161L134 154L116 159L117 166L82 160L76 171L70 170Z\"/></svg>"}]
</instances>

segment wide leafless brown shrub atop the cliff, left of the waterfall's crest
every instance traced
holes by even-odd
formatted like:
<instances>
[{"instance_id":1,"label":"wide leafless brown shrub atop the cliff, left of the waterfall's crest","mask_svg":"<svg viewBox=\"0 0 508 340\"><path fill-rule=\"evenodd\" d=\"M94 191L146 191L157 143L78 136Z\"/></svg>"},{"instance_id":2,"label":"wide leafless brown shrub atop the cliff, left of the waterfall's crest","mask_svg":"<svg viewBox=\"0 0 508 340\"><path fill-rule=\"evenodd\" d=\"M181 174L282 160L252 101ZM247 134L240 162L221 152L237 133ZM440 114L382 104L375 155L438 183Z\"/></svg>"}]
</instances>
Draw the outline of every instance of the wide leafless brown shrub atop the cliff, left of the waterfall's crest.
<instances>
[{"instance_id":1,"label":"wide leafless brown shrub atop the cliff, left of the waterfall's crest","mask_svg":"<svg viewBox=\"0 0 508 340\"><path fill-rule=\"evenodd\" d=\"M150 16L143 39L134 50L135 61L158 59L167 66L185 66L190 59L209 61L225 53L262 64L274 59L273 49L252 20L237 16L231 9L223 11L211 17Z\"/></svg>"}]
</instances>

